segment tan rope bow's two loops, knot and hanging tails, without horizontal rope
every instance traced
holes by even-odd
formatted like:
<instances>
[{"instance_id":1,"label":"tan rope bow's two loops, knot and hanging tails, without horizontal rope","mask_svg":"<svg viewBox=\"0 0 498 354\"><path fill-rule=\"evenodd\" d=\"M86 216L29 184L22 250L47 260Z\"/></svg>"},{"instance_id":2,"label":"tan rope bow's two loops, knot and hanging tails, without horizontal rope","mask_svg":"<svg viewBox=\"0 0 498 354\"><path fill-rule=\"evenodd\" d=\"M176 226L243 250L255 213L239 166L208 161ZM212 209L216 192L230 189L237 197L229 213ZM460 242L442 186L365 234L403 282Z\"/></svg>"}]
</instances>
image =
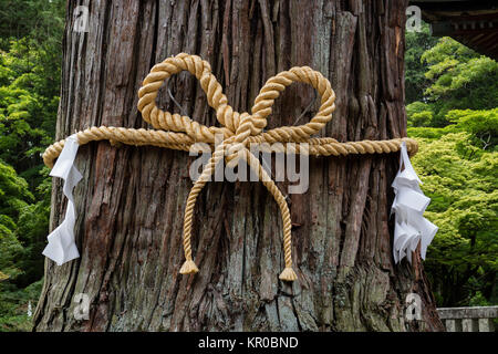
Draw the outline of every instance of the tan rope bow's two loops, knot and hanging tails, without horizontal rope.
<instances>
[{"instance_id":1,"label":"tan rope bow's two loops, knot and hanging tails, without horizontal rope","mask_svg":"<svg viewBox=\"0 0 498 354\"><path fill-rule=\"evenodd\" d=\"M215 166L219 160L226 158L227 164L234 167L240 158L245 158L249 166L258 173L259 179L263 181L264 186L272 194L280 207L284 225L283 239L286 251L286 270L281 274L281 279L294 280L295 273L292 271L290 247L291 223L289 208L282 194L271 178L267 176L259 159L248 150L247 145L250 137L259 138L260 140L302 142L303 139L310 138L312 134L318 133L326 122L332 118L335 95L329 80L308 66L293 67L290 71L281 72L277 76L268 80L260 90L255 100L251 114L247 112L240 114L234 111L228 104L227 96L222 93L221 85L218 83L215 75L212 75L209 63L203 61L199 56L185 53L166 59L163 63L155 65L147 77L145 77L143 87L138 91L138 110L142 112L144 119L151 122L157 129L185 133L195 142L201 140L208 143L214 143L212 133L216 133L216 129L193 122L188 117L183 117L181 119L176 117L175 119L175 115L163 112L156 106L155 98L164 80L181 70L189 71L200 81L200 86L207 95L207 102L216 111L216 118L224 127L219 129L222 131L225 136L224 142L216 147L214 155L204 167L201 176L194 184L187 199L184 220L186 263L181 272L188 273L189 271L187 270L193 269L193 267L187 267L186 264L190 264L193 261L190 251L191 216L197 196L209 179L208 177L214 173ZM279 97L280 93L292 82L308 83L319 92L322 96L322 105L319 112L304 125L280 127L262 134L262 129L267 126L267 117L272 112L271 107L273 106L274 100ZM153 112L154 116L152 119L151 112ZM168 117L174 118L168 119ZM267 137L271 138L267 139ZM228 154L226 154L226 148L228 149ZM225 157L225 155L227 156Z\"/></svg>"}]
</instances>

